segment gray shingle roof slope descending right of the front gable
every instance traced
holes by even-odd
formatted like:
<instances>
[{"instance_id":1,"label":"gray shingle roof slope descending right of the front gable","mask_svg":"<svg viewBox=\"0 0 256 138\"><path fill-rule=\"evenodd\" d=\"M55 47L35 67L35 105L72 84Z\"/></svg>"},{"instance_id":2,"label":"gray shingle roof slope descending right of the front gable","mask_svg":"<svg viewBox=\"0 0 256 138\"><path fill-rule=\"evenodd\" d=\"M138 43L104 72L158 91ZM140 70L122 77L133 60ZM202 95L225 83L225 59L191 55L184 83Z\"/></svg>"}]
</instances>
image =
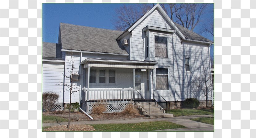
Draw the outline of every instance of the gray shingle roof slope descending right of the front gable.
<instances>
[{"instance_id":1,"label":"gray shingle roof slope descending right of the front gable","mask_svg":"<svg viewBox=\"0 0 256 138\"><path fill-rule=\"evenodd\" d=\"M200 36L197 33L194 33L190 30L188 30L187 28L183 27L182 25L179 25L177 23L174 22L174 24L178 27L178 29L181 31L181 33L187 38L187 39L192 39L192 40L199 40L199 41L206 41L206 42L212 42L209 39L206 39L203 36Z\"/></svg>"}]
</instances>

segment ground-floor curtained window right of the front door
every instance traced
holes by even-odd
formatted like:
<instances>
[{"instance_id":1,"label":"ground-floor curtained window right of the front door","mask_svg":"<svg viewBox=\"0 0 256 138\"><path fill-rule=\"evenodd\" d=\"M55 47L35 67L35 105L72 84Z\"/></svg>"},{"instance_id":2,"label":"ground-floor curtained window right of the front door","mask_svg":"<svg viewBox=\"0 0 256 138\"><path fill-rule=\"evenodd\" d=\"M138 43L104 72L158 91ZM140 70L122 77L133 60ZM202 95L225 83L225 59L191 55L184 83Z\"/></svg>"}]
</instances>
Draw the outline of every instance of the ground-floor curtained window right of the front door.
<instances>
[{"instance_id":1,"label":"ground-floor curtained window right of the front door","mask_svg":"<svg viewBox=\"0 0 256 138\"><path fill-rule=\"evenodd\" d=\"M167 68L156 68L156 89L169 90Z\"/></svg>"}]
</instances>

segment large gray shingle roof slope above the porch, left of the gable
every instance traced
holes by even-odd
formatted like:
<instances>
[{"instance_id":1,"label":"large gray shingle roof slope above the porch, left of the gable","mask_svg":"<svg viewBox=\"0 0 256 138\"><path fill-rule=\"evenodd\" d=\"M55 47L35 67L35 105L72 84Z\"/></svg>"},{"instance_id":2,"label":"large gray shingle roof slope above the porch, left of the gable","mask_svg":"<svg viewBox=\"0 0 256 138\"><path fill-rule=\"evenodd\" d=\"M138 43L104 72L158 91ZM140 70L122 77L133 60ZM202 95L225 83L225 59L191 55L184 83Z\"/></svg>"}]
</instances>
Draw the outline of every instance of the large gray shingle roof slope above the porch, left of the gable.
<instances>
[{"instance_id":1,"label":"large gray shingle roof slope above the porch, left of the gable","mask_svg":"<svg viewBox=\"0 0 256 138\"><path fill-rule=\"evenodd\" d=\"M116 38L123 31L60 23L62 49L128 54Z\"/></svg>"}]
</instances>

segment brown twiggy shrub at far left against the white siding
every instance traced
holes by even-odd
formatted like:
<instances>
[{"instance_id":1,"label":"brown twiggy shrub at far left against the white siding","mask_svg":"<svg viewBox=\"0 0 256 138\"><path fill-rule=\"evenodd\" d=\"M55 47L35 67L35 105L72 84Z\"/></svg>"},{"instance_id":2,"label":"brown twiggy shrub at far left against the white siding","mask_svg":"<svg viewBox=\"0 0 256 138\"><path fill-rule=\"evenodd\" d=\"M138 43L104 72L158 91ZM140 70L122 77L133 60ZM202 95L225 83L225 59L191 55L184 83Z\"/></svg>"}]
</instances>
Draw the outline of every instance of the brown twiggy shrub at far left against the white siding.
<instances>
[{"instance_id":1,"label":"brown twiggy shrub at far left against the white siding","mask_svg":"<svg viewBox=\"0 0 256 138\"><path fill-rule=\"evenodd\" d=\"M52 111L54 104L58 102L59 94L52 91L43 92L43 110L46 112Z\"/></svg>"}]
</instances>

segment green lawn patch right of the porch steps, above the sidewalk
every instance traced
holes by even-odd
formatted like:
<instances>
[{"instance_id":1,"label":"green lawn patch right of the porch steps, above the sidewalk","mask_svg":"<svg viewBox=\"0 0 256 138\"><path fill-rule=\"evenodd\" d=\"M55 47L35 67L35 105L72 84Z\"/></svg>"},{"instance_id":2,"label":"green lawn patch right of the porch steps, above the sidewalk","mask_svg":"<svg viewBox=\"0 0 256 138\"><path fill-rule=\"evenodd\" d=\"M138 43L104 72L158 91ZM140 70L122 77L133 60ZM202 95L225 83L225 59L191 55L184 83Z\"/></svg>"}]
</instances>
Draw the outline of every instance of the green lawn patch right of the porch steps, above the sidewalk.
<instances>
[{"instance_id":1,"label":"green lawn patch right of the porch steps, above the sidewalk","mask_svg":"<svg viewBox=\"0 0 256 138\"><path fill-rule=\"evenodd\" d=\"M171 109L168 113L175 117L190 115L213 115L213 109Z\"/></svg>"}]
</instances>

